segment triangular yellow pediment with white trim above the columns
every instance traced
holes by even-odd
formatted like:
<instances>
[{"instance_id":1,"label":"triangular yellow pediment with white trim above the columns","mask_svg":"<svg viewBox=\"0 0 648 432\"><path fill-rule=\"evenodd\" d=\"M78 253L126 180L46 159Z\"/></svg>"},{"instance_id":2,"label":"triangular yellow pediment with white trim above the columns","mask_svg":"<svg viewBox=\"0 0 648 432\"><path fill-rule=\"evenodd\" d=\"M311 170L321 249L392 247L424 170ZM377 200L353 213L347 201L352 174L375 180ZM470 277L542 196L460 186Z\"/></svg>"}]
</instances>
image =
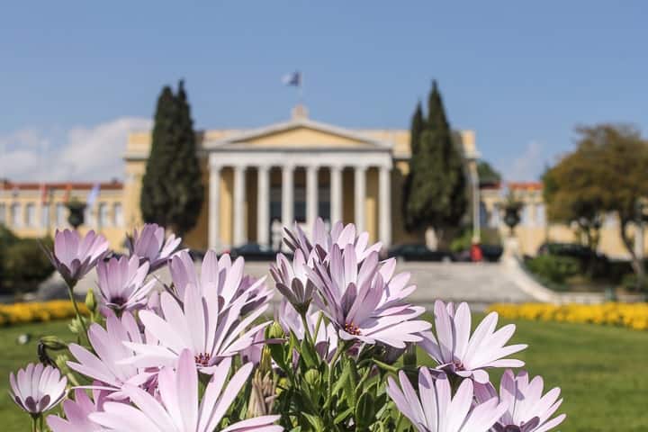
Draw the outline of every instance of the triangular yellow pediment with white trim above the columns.
<instances>
[{"instance_id":1,"label":"triangular yellow pediment with white trim above the columns","mask_svg":"<svg viewBox=\"0 0 648 432\"><path fill-rule=\"evenodd\" d=\"M338 128L309 119L293 119L276 123L265 128L247 130L227 139L211 140L204 143L207 150L219 149L366 149L390 150L392 145L372 139L352 130Z\"/></svg>"}]
</instances>

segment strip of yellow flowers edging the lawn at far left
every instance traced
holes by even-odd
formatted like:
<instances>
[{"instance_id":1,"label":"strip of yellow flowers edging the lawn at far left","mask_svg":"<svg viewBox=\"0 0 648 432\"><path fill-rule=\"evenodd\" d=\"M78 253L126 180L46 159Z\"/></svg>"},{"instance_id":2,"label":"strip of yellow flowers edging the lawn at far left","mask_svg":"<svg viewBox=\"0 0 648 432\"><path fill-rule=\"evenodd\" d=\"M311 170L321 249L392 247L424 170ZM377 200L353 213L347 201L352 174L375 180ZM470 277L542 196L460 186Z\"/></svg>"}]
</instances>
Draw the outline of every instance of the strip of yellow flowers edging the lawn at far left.
<instances>
[{"instance_id":1,"label":"strip of yellow flowers edging the lawn at far left","mask_svg":"<svg viewBox=\"0 0 648 432\"><path fill-rule=\"evenodd\" d=\"M83 302L78 303L79 311L86 315L87 308ZM30 302L0 304L0 326L13 326L28 322L65 320L76 315L74 306L69 300L52 302Z\"/></svg>"}]
</instances>

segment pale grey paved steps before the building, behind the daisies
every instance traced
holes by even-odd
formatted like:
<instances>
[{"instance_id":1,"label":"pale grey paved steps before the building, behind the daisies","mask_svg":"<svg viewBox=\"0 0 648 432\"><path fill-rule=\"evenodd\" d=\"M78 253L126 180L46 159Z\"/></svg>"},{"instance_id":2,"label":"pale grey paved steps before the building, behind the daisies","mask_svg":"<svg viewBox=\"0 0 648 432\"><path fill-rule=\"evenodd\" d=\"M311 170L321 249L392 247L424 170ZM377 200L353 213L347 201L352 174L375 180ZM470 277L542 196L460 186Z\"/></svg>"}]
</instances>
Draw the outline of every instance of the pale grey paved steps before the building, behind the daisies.
<instances>
[{"instance_id":1,"label":"pale grey paved steps before the building, behind the daisies","mask_svg":"<svg viewBox=\"0 0 648 432\"><path fill-rule=\"evenodd\" d=\"M257 277L267 275L267 263L247 263L246 273ZM481 309L492 302L530 302L533 297L513 281L506 267L500 264L472 263L400 263L397 272L410 272L411 282L419 289L411 301L430 305L441 299L452 302L469 302ZM160 280L169 281L168 272L157 274ZM268 279L269 275L268 275ZM85 293L94 285L96 276L90 274L77 285L78 293ZM278 295L275 296L275 299Z\"/></svg>"}]
</instances>

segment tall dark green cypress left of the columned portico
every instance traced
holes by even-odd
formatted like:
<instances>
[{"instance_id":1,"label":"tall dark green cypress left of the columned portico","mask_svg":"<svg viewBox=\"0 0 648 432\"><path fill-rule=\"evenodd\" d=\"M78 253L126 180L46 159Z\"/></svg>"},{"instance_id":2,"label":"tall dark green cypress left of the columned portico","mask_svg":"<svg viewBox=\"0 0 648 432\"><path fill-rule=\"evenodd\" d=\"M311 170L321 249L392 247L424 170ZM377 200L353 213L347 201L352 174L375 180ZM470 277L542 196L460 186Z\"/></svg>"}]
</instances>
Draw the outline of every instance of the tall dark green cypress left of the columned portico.
<instances>
[{"instance_id":1,"label":"tall dark green cypress left of the columned portico","mask_svg":"<svg viewBox=\"0 0 648 432\"><path fill-rule=\"evenodd\" d=\"M142 180L142 217L183 235L198 219L203 193L191 109L180 81L177 94L165 86L157 99L151 151Z\"/></svg>"}]
</instances>

